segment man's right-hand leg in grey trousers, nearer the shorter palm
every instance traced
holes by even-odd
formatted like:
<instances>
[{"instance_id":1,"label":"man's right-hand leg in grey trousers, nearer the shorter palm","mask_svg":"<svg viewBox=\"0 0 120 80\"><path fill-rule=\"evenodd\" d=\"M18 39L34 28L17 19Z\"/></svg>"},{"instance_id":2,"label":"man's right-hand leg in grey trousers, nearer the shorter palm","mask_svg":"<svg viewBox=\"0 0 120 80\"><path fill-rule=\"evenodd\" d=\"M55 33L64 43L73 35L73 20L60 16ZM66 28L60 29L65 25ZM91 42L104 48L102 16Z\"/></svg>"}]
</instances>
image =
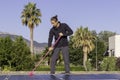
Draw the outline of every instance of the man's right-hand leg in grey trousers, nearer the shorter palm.
<instances>
[{"instance_id":1,"label":"man's right-hand leg in grey trousers, nearer the shorter palm","mask_svg":"<svg viewBox=\"0 0 120 80\"><path fill-rule=\"evenodd\" d=\"M64 65L65 65L65 73L70 73L70 61L69 61L69 48L68 46L62 47L62 54L64 59Z\"/></svg>"}]
</instances>

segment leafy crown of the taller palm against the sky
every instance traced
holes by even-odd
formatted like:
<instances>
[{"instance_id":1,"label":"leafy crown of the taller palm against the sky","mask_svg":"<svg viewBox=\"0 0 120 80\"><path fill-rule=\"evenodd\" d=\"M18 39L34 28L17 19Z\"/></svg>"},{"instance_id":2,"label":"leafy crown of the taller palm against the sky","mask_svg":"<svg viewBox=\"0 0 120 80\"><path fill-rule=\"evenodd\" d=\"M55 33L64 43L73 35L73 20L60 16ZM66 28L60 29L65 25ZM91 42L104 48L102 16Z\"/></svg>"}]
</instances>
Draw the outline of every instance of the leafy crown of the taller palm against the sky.
<instances>
[{"instance_id":1,"label":"leafy crown of the taller palm against the sky","mask_svg":"<svg viewBox=\"0 0 120 80\"><path fill-rule=\"evenodd\" d=\"M38 26L41 23L41 12L37 9L35 3L29 2L28 5L24 6L21 13L22 24L28 27Z\"/></svg>"}]
</instances>

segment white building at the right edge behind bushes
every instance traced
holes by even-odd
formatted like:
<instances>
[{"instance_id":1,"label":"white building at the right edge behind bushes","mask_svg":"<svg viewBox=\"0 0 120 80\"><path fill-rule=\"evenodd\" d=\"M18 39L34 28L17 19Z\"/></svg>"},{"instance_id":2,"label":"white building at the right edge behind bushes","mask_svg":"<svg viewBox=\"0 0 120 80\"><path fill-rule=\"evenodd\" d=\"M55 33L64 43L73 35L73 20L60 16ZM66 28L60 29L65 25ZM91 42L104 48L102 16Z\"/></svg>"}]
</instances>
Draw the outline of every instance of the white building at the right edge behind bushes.
<instances>
[{"instance_id":1,"label":"white building at the right edge behind bushes","mask_svg":"<svg viewBox=\"0 0 120 80\"><path fill-rule=\"evenodd\" d=\"M120 35L109 37L109 56L120 57Z\"/></svg>"}]
</instances>

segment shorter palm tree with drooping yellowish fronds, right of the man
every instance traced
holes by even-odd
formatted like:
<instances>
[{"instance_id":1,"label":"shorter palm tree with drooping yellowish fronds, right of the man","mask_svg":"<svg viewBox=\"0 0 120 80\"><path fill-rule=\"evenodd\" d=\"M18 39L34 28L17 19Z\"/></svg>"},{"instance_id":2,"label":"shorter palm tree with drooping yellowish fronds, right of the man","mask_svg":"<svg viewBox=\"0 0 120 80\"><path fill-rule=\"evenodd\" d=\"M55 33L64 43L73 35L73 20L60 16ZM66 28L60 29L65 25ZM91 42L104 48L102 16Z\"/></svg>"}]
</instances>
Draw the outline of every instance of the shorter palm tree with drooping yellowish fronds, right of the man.
<instances>
[{"instance_id":1,"label":"shorter palm tree with drooping yellowish fronds, right of the man","mask_svg":"<svg viewBox=\"0 0 120 80\"><path fill-rule=\"evenodd\" d=\"M88 30L87 27L78 28L72 38L72 41L74 42L73 47L78 49L82 47L83 49L83 53L84 53L83 66L85 70L87 70L87 67L86 67L87 54L90 53L95 48L95 45L93 44L94 39L95 37Z\"/></svg>"}]
</instances>

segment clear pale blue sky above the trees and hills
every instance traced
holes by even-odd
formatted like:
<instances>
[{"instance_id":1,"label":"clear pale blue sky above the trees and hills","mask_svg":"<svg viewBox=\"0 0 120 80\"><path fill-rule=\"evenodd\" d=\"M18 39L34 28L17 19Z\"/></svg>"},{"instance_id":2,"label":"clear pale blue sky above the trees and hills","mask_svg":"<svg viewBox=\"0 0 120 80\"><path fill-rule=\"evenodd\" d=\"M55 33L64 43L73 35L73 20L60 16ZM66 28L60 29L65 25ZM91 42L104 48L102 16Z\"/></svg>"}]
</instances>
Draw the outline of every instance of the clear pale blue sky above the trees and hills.
<instances>
[{"instance_id":1,"label":"clear pale blue sky above the trees and hills","mask_svg":"<svg viewBox=\"0 0 120 80\"><path fill-rule=\"evenodd\" d=\"M34 28L34 40L48 41L50 18L58 15L75 32L80 26L90 30L120 34L120 0L0 0L0 32L21 35L30 40L29 28L21 23L21 12L29 2L40 9L42 23Z\"/></svg>"}]
</instances>

